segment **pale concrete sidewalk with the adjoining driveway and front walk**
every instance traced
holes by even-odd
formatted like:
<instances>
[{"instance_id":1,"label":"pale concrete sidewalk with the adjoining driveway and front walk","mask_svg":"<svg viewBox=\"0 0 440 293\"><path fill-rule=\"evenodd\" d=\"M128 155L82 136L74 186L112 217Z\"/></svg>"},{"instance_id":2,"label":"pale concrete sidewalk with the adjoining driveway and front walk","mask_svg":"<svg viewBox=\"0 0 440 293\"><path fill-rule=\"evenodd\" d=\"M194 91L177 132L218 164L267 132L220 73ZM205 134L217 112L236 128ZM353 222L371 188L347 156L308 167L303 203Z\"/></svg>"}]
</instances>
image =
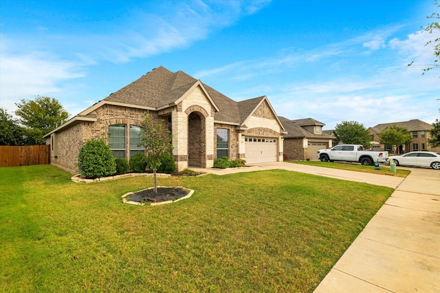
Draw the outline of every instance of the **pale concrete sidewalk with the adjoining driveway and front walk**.
<instances>
[{"instance_id":1,"label":"pale concrete sidewalk with the adjoining driveway and front walk","mask_svg":"<svg viewBox=\"0 0 440 293\"><path fill-rule=\"evenodd\" d=\"M265 169L287 169L395 189L314 293L440 292L438 170L408 168L411 174L407 178L283 162L198 170L224 175Z\"/></svg>"}]
</instances>

